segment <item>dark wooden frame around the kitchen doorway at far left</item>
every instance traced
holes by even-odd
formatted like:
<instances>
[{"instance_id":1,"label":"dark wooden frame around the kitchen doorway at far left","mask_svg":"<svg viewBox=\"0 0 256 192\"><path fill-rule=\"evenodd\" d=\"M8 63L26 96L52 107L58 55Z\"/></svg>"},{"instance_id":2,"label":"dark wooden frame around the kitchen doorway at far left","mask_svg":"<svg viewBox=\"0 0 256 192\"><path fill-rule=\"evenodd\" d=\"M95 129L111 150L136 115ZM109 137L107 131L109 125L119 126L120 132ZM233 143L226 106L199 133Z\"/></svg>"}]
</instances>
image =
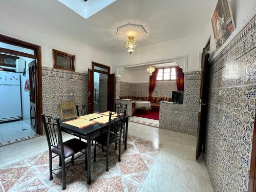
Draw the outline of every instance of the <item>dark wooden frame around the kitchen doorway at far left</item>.
<instances>
[{"instance_id":1,"label":"dark wooden frame around the kitchen doorway at far left","mask_svg":"<svg viewBox=\"0 0 256 192\"><path fill-rule=\"evenodd\" d=\"M10 49L5 49L5 48L0 48L0 52L3 53L9 53L13 55L19 55L19 56L24 56L24 57L29 57L33 59L37 59L37 66L36 66L36 74L37 74L37 92L36 92L36 120L37 120L37 129L36 133L42 135L43 132L43 127L42 127L42 120L41 120L41 114L42 114L42 61L41 61L41 46L31 44L30 42L26 42L23 40L19 40L16 38L12 38L6 35L0 34L0 41L5 42L7 44L11 44L14 46L19 46L27 49L32 49L34 50L34 54L28 54L28 53L23 53L19 51L14 51Z\"/></svg>"}]
</instances>

